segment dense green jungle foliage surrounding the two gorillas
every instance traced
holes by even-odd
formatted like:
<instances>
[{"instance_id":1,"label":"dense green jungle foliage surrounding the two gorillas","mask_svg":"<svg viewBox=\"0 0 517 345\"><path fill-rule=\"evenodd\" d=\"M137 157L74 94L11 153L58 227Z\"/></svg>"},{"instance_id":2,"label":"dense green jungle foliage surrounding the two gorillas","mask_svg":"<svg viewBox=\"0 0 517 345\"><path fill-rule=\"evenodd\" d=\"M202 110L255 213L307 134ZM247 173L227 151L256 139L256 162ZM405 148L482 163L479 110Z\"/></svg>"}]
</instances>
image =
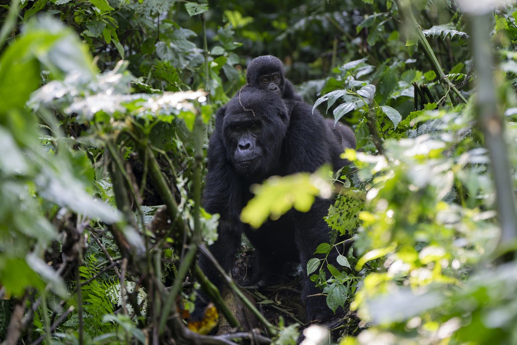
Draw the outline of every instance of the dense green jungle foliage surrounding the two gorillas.
<instances>
[{"instance_id":1,"label":"dense green jungle foliage surrounding the two gorillas","mask_svg":"<svg viewBox=\"0 0 517 345\"><path fill-rule=\"evenodd\" d=\"M332 341L517 341L517 7L12 0L0 23L2 344L296 343L283 299L248 291L257 309L233 282L261 334L217 291L232 331L206 335L214 309L188 322L217 238L200 208L213 115L263 54L356 133L347 178L271 178L242 213L258 226L334 194L327 223L351 239L316 253L340 266L301 269L348 310Z\"/></svg>"}]
</instances>

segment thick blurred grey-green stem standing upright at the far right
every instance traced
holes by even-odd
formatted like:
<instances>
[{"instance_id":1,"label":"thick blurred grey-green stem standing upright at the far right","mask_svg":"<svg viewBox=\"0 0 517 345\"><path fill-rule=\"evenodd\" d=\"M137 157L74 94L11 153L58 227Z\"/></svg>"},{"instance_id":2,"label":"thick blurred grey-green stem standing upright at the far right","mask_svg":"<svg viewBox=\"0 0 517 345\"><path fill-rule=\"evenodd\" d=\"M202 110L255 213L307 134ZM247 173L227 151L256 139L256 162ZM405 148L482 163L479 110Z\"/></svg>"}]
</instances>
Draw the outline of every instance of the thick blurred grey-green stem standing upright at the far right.
<instances>
[{"instance_id":1,"label":"thick blurred grey-green stem standing upright at the far right","mask_svg":"<svg viewBox=\"0 0 517 345\"><path fill-rule=\"evenodd\" d=\"M492 46L489 34L492 14L473 16L472 50L477 66L476 112L488 148L496 190L497 216L501 227L499 249L515 245L517 215L513 197L507 147L504 141L504 118L497 111L496 86L493 80Z\"/></svg>"}]
</instances>

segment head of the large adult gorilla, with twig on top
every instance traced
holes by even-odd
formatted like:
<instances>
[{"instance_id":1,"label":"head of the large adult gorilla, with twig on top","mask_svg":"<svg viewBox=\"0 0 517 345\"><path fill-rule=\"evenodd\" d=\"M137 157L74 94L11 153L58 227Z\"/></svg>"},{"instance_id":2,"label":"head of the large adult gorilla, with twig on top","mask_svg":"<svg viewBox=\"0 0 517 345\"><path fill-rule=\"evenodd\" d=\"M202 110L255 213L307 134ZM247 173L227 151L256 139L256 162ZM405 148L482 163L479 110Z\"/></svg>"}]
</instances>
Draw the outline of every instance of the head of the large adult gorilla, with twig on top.
<instances>
[{"instance_id":1,"label":"head of the large adult gorilla, with twig on top","mask_svg":"<svg viewBox=\"0 0 517 345\"><path fill-rule=\"evenodd\" d=\"M227 158L239 175L261 177L273 172L288 121L285 102L267 90L245 87L227 104L223 141Z\"/></svg>"}]
</instances>

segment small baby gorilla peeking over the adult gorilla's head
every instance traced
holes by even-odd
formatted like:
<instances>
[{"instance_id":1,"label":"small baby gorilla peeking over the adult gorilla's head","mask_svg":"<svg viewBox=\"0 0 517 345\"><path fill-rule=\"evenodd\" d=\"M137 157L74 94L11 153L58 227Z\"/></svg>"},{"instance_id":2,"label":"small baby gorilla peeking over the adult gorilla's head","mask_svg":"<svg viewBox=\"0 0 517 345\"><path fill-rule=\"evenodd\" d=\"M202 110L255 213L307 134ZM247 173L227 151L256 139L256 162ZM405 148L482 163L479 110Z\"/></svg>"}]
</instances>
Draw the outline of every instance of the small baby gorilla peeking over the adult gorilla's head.
<instances>
[{"instance_id":1,"label":"small baby gorilla peeking over the adult gorilla's head","mask_svg":"<svg viewBox=\"0 0 517 345\"><path fill-rule=\"evenodd\" d=\"M255 57L248 64L246 79L248 85L279 92L283 99L302 100L301 97L295 93L291 81L285 78L284 64L278 57L272 55Z\"/></svg>"}]
</instances>

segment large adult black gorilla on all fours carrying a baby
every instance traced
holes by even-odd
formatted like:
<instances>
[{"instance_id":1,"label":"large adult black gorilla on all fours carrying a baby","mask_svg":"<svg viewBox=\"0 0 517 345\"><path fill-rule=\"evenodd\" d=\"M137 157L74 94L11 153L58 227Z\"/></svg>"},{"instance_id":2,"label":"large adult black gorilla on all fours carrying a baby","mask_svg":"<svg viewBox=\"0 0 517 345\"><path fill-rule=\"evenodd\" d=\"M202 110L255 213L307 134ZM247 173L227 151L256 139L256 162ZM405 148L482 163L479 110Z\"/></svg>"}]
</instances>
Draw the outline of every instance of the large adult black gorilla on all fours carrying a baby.
<instances>
[{"instance_id":1,"label":"large adult black gorilla on all fours carrying a baby","mask_svg":"<svg viewBox=\"0 0 517 345\"><path fill-rule=\"evenodd\" d=\"M347 163L339 157L344 149L341 137L325 122L305 102L284 100L276 92L249 86L217 112L208 146L203 204L207 212L220 214L219 238L209 249L226 271L235 262L243 232L255 248L255 282L250 283L261 280L259 285L268 284L275 273L281 274L279 267L287 261L306 267L316 246L329 241L329 228L323 219L329 200L316 200L307 213L292 210L279 220L268 220L260 229L240 221L242 207L253 197L251 184L272 175L314 172L324 163L332 163L336 170ZM199 260L208 279L221 287L222 279L210 260L203 254ZM321 291L303 276L307 320L332 316L325 297L308 297ZM205 297L201 294L197 298L194 319L200 318Z\"/></svg>"}]
</instances>

